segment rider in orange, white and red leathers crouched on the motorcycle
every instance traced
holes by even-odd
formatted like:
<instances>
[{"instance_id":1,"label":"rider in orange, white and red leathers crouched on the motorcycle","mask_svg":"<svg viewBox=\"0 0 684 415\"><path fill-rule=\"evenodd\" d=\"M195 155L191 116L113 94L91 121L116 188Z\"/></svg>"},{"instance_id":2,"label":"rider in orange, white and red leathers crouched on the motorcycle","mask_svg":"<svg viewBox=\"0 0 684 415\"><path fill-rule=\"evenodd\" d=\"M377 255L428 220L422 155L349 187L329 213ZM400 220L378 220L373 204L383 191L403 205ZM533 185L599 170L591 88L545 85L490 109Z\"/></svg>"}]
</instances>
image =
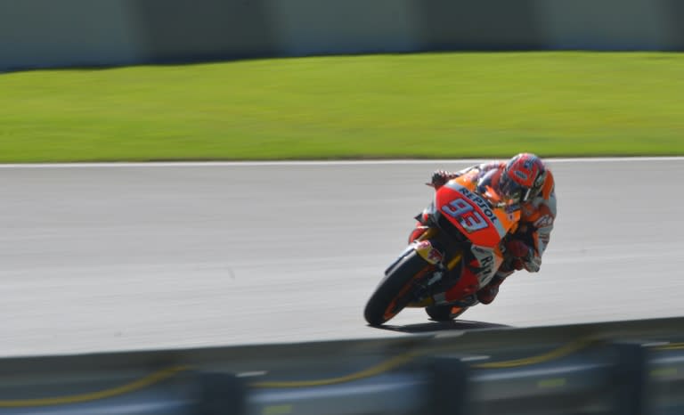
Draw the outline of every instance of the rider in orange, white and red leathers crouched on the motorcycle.
<instances>
[{"instance_id":1,"label":"rider in orange, white and red leathers crouched on the motorcycle","mask_svg":"<svg viewBox=\"0 0 684 415\"><path fill-rule=\"evenodd\" d=\"M437 190L449 180L466 174L473 175L478 189L489 186L507 206L520 209L517 231L507 235L504 242L501 267L493 279L476 292L477 300L486 305L493 302L501 283L510 274L523 268L530 273L539 271L556 219L555 184L550 169L531 153L520 153L508 161L490 161L459 172L437 170L428 184ZM409 241L416 240L425 229L419 219Z\"/></svg>"}]
</instances>

